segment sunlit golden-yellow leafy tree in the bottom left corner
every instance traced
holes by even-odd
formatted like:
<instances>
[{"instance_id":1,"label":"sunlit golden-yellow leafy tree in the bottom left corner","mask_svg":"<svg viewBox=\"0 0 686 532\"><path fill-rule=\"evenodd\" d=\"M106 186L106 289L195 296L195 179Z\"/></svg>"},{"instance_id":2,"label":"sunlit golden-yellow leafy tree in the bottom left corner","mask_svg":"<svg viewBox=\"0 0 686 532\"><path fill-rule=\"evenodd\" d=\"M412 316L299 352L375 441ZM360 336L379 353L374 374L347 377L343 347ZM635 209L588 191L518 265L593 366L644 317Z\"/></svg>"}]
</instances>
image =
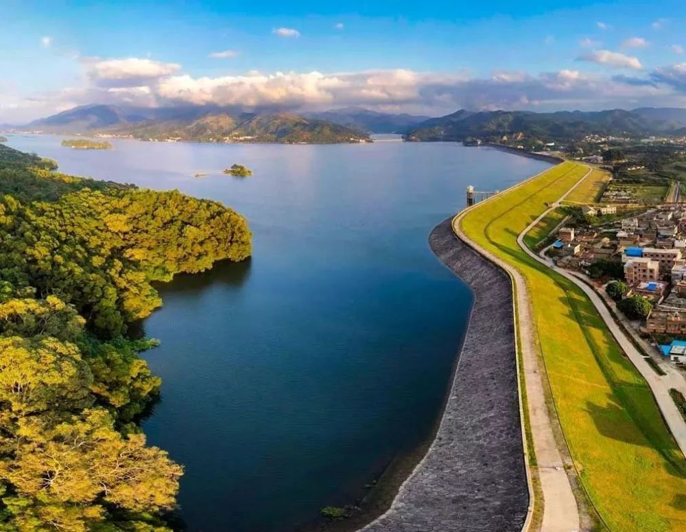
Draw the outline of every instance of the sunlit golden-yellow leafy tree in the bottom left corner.
<instances>
[{"instance_id":1,"label":"sunlit golden-yellow leafy tree in the bottom left corner","mask_svg":"<svg viewBox=\"0 0 686 532\"><path fill-rule=\"evenodd\" d=\"M0 478L18 498L5 502L10 511L19 500L40 511L52 508L88 529L89 521L102 519L106 504L134 512L174 507L180 465L145 446L141 434L123 437L106 410L86 409L56 426L42 417L25 417L20 424L22 438L0 461ZM24 519L23 513L15 520Z\"/></svg>"}]
</instances>

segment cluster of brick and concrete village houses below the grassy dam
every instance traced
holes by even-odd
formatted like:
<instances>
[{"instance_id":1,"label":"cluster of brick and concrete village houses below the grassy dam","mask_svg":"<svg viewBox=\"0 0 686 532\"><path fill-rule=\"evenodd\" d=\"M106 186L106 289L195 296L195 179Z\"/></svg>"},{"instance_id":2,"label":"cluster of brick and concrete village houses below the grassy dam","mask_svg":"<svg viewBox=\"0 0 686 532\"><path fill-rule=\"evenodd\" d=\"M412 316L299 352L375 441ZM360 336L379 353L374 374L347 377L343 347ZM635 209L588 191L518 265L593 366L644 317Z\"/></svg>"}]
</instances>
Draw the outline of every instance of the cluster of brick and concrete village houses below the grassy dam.
<instances>
[{"instance_id":1,"label":"cluster of brick and concrete village houses below the grassy dam","mask_svg":"<svg viewBox=\"0 0 686 532\"><path fill-rule=\"evenodd\" d=\"M686 205L627 209L619 215L617 205L581 210L584 217L576 223L568 224L567 216L558 224L554 242L541 254L556 267L582 275L662 360L685 367ZM601 217L610 221L595 221Z\"/></svg>"}]
</instances>

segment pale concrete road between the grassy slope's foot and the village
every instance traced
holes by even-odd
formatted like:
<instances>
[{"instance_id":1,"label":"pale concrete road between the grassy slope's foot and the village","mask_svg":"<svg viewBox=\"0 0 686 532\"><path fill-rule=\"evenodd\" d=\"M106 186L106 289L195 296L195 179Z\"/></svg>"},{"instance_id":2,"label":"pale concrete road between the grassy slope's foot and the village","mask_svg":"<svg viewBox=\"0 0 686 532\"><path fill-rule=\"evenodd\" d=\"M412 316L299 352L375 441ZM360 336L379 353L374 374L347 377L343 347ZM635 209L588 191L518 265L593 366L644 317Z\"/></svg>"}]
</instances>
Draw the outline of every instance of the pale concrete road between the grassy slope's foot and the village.
<instances>
[{"instance_id":1,"label":"pale concrete road between the grassy slope's foot and the village","mask_svg":"<svg viewBox=\"0 0 686 532\"><path fill-rule=\"evenodd\" d=\"M524 231L519 233L519 236L517 236L517 244L519 244L519 246L525 251L525 253L527 253L537 261L541 262L542 264L545 264L546 266L549 266L550 268L554 268L556 272L562 275L563 277L567 277L567 279L569 279L574 284L576 284L576 286L581 288L581 290L584 291L584 293L589 297L589 299L591 299L593 306L595 306L595 309L598 310L598 313L602 317L608 329L610 329L612 335L615 337L615 340L617 340L619 347L622 348L627 358L632 362L632 364L636 367L639 373L641 373L646 382L648 382L650 390L652 391L652 394L654 395L655 400L657 401L657 406L660 408L660 411L663 417L665 418L665 421L667 421L667 426L672 432L672 435L674 435L674 439L676 440L677 445L681 449L681 452L683 452L683 454L686 456L686 423L684 422L681 413L679 413L678 409L676 408L676 404L674 404L674 400L672 400L672 397L669 393L670 387L682 389L681 386L683 386L683 378L681 379L680 384L679 380L676 378L678 375L674 375L674 373L670 372L667 375L658 375L657 373L655 373L652 367L648 365L648 362L646 362L646 359L643 358L643 354L641 354L641 351L639 351L635 347L635 345L631 343L626 334L624 334L622 328L619 327L619 325L617 325L612 314L610 314L610 311L608 310L607 306L605 305L601 297L598 295L598 293L595 292L595 290L593 290L593 288L591 288L584 281L582 281L582 279L579 279L577 275L574 275L568 270L565 270L563 268L555 268L551 259L548 259L547 257L543 258L539 255L536 255L536 253L531 251L528 248L528 246L524 244L524 235L528 233L528 231L530 231L532 227L534 227L537 223L543 220L547 213L552 211L555 207L558 207L559 202L564 200L567 197L567 194L572 192L573 189L575 189L579 183L581 183L581 181L579 181L576 185L571 187L571 189L569 189L565 194L563 194L563 196L558 200L557 203L555 203L552 207L543 212L541 216L539 216L538 218L536 218L536 220L531 222L526 227L526 229L524 229Z\"/></svg>"}]
</instances>

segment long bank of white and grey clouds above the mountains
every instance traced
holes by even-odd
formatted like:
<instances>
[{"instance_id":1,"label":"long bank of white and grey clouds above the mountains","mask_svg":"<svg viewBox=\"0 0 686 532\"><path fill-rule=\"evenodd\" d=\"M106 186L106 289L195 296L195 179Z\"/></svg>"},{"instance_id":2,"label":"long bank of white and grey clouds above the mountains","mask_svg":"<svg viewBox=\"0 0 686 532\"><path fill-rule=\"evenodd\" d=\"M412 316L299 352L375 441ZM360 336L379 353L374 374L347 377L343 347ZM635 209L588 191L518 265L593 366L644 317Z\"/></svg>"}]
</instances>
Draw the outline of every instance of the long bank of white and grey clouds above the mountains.
<instances>
[{"instance_id":1,"label":"long bank of white and grey clouds above the mountains","mask_svg":"<svg viewBox=\"0 0 686 532\"><path fill-rule=\"evenodd\" d=\"M229 57L230 52L214 54ZM294 111L355 105L431 115L458 108L551 111L686 106L686 63L642 74L642 65L636 58L617 52L590 51L582 60L628 69L635 74L606 76L563 69L536 75L497 71L490 76L473 77L464 71L388 69L338 73L252 71L209 77L191 76L176 63L152 59L81 58L86 86L23 100L0 94L0 102L4 100L0 122L9 122L12 117L40 117L91 103L268 106Z\"/></svg>"}]
</instances>

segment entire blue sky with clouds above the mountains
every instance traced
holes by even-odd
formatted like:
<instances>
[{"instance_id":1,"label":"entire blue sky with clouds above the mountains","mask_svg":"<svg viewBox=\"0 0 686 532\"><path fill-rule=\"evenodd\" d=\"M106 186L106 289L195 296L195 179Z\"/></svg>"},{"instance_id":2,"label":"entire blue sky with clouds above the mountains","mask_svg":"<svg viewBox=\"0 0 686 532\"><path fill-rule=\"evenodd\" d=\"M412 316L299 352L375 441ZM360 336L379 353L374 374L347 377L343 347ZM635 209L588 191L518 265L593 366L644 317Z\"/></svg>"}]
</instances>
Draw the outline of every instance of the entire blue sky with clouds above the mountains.
<instances>
[{"instance_id":1,"label":"entire blue sky with clouds above the mountains","mask_svg":"<svg viewBox=\"0 0 686 532\"><path fill-rule=\"evenodd\" d=\"M686 107L683 0L2 4L0 124L93 103Z\"/></svg>"}]
</instances>

